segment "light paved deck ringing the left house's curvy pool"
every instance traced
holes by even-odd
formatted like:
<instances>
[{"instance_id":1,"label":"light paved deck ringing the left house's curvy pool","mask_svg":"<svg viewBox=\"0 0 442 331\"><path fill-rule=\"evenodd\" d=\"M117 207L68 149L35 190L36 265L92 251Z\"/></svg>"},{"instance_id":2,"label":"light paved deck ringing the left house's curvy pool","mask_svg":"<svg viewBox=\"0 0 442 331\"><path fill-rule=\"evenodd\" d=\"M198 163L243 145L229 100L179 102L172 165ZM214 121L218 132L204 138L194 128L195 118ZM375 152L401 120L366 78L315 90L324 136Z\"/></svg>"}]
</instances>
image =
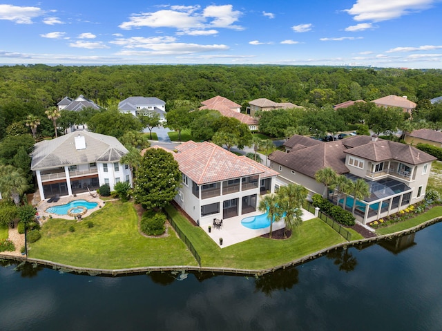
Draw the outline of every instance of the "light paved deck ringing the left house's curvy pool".
<instances>
[{"instance_id":1,"label":"light paved deck ringing the left house's curvy pool","mask_svg":"<svg viewBox=\"0 0 442 331\"><path fill-rule=\"evenodd\" d=\"M66 205L66 203L69 203L69 202L75 201L75 200L86 200L89 202L97 202L98 203L97 207L95 207L93 209L88 209L88 211L86 211L86 214L81 216L82 218L85 218L86 216L89 216L90 214L92 214L94 211L99 209L99 206L102 206L102 207L104 206L104 201L102 199L100 199L98 196L94 198L88 192L77 194L77 196L62 196L61 198L59 198L59 200L57 202L48 202L48 200L43 200L43 201L39 202L39 204L37 205L37 213L39 216L39 222L41 224L44 224L48 220L49 216L52 216L52 218L63 218L65 220L73 220L74 219L73 216L48 213L48 212L46 212L46 209L48 209L49 207Z\"/></svg>"}]
</instances>

